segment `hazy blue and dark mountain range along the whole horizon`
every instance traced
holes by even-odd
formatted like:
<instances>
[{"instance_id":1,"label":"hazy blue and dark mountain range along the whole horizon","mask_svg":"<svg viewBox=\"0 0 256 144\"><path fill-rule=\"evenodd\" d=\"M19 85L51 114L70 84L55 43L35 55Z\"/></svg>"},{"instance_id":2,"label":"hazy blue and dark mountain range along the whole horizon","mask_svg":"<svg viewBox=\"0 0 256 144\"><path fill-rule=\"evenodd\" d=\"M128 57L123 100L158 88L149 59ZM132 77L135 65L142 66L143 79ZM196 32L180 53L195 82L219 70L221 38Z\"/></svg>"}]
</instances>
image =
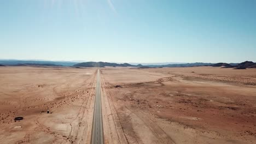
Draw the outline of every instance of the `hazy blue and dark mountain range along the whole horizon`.
<instances>
[{"instance_id":1,"label":"hazy blue and dark mountain range along the whole horizon","mask_svg":"<svg viewBox=\"0 0 256 144\"><path fill-rule=\"evenodd\" d=\"M129 64L129 63L108 63L108 62L66 62L66 61L28 61L28 60L1 60L0 66L48 66L48 67L139 67L139 68L150 68L150 67L199 67L199 66L212 66L222 68L235 68L235 69L246 69L256 68L256 63L246 61L242 63L176 63L176 64L162 64L162 65L142 65L142 64ZM136 64L136 65L135 65ZM143 63L145 64L145 63Z\"/></svg>"}]
</instances>

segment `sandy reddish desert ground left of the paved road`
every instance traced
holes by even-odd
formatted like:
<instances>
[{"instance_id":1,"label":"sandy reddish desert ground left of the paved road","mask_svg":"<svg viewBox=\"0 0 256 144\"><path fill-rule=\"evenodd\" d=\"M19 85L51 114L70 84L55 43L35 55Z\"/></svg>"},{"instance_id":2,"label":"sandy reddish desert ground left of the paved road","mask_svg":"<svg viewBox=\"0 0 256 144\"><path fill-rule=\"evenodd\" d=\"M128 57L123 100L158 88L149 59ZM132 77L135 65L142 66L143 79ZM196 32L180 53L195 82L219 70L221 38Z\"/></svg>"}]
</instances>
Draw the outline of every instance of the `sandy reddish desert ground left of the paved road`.
<instances>
[{"instance_id":1,"label":"sandy reddish desert ground left of the paved road","mask_svg":"<svg viewBox=\"0 0 256 144\"><path fill-rule=\"evenodd\" d=\"M1 143L90 143L95 73L91 68L0 68ZM15 122L18 116L24 119Z\"/></svg>"}]
</instances>

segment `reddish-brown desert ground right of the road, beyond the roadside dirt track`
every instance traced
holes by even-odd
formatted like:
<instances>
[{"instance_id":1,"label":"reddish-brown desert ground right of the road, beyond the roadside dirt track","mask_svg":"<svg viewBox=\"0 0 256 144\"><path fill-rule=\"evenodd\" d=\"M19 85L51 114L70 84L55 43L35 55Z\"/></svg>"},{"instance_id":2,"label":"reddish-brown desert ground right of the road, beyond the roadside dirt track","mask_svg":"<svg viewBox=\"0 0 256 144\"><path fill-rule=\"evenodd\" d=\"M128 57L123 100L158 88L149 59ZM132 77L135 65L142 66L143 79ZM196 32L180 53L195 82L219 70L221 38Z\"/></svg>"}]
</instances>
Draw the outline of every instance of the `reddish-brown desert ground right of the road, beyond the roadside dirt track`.
<instances>
[{"instance_id":1,"label":"reddish-brown desert ground right of the road, beyond the roadside dirt track","mask_svg":"<svg viewBox=\"0 0 256 144\"><path fill-rule=\"evenodd\" d=\"M256 143L256 69L101 72L129 143Z\"/></svg>"}]
</instances>

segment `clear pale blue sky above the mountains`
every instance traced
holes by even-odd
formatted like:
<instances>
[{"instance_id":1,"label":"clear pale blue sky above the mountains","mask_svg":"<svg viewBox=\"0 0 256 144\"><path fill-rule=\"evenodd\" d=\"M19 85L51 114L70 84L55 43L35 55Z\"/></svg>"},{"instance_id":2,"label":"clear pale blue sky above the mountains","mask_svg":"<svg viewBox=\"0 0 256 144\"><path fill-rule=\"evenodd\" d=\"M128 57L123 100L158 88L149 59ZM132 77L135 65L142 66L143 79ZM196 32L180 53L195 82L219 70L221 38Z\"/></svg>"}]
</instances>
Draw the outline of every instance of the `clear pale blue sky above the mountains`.
<instances>
[{"instance_id":1,"label":"clear pale blue sky above the mountains","mask_svg":"<svg viewBox=\"0 0 256 144\"><path fill-rule=\"evenodd\" d=\"M0 58L256 62L256 1L0 1Z\"/></svg>"}]
</instances>

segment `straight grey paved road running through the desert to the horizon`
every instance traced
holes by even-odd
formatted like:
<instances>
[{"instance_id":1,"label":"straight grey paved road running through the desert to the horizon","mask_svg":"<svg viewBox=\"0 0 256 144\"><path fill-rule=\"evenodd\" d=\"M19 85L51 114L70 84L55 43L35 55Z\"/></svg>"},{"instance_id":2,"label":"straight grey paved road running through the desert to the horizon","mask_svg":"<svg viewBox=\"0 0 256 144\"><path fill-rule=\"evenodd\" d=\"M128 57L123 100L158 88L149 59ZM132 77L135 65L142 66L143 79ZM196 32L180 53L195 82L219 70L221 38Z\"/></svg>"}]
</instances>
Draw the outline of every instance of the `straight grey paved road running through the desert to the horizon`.
<instances>
[{"instance_id":1,"label":"straight grey paved road running through the desert to the horizon","mask_svg":"<svg viewBox=\"0 0 256 144\"><path fill-rule=\"evenodd\" d=\"M103 137L103 123L102 123L102 111L101 111L101 77L100 70L97 72L97 86L96 86L96 98L94 104L94 120L92 122L92 134L91 143L100 144L104 143Z\"/></svg>"}]
</instances>

